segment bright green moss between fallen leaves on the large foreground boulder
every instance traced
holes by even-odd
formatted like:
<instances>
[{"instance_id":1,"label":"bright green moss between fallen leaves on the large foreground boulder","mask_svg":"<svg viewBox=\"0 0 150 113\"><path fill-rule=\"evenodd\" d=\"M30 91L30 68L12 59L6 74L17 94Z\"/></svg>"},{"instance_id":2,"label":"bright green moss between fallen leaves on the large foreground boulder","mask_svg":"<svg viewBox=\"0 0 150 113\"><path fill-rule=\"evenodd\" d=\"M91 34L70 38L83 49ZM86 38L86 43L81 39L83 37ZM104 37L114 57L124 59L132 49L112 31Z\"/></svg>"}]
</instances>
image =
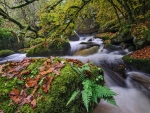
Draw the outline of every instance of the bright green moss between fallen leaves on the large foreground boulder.
<instances>
[{"instance_id":1,"label":"bright green moss between fallen leaves on the large foreground boulder","mask_svg":"<svg viewBox=\"0 0 150 113\"><path fill-rule=\"evenodd\" d=\"M39 70L36 70L35 73L32 71L43 66L43 62L46 60L47 58L33 59L32 63L25 69L31 70L31 73L22 75L21 77L32 78L32 75L33 78L36 77L36 75L39 73ZM54 58L52 63L61 61L64 62L65 66L61 69L60 75L55 75L54 73L47 75L55 76L50 84L49 92L44 93L42 91L42 84L40 84L40 87L37 89L36 92L39 93L40 96L36 98L36 107L34 109L31 108L29 104L12 104L8 106L10 103L12 103L9 97L9 92L14 88L21 90L24 87L25 80L23 80L23 83L21 83L17 77L10 79L0 76L0 110L3 110L4 113L15 113L16 111L19 111L19 113L81 113L84 111L85 107L83 106L81 98L74 100L72 103L66 106L66 103L70 99L72 93L78 87L81 87L81 81L77 72L72 69L70 62L63 58ZM78 65L78 67L80 66ZM90 67L91 74L88 77L89 79L96 81L97 77L103 74L103 71L94 65L91 65ZM98 83L101 85L103 84L102 81ZM29 95L33 90L34 88L30 88L28 90L26 89L26 93Z\"/></svg>"}]
</instances>

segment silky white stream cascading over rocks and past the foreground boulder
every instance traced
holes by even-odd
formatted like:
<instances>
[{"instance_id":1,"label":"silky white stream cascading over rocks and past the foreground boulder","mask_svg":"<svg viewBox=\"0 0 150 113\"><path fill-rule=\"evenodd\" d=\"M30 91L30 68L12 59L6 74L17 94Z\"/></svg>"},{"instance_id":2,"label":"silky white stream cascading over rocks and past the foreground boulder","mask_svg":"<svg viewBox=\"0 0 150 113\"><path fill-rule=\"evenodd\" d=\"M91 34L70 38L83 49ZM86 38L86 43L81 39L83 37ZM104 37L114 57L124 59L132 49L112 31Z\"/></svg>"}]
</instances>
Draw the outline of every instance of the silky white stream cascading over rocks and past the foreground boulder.
<instances>
[{"instance_id":1,"label":"silky white stream cascading over rocks and past the foreground boulder","mask_svg":"<svg viewBox=\"0 0 150 113\"><path fill-rule=\"evenodd\" d=\"M150 75L124 64L122 57L130 52L119 46L105 48L101 39L92 36L70 41L71 51L64 58L90 61L104 69L105 85L118 95L118 107L101 100L94 113L150 113ZM0 64L7 61L21 61L25 54L13 54L0 58Z\"/></svg>"}]
</instances>

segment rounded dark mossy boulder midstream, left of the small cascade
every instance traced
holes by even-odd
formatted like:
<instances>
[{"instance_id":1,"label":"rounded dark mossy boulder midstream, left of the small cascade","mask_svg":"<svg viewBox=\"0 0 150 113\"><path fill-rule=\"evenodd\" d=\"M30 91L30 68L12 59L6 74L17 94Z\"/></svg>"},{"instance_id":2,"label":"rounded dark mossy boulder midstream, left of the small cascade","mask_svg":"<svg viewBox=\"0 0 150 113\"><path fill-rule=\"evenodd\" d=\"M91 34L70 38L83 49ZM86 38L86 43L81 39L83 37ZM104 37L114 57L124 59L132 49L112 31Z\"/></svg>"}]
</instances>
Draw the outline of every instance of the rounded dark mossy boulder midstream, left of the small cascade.
<instances>
[{"instance_id":1,"label":"rounded dark mossy boulder midstream, left of the small cascade","mask_svg":"<svg viewBox=\"0 0 150 113\"><path fill-rule=\"evenodd\" d=\"M64 39L57 38L44 42L27 52L27 56L63 56L70 50L70 44Z\"/></svg>"}]
</instances>

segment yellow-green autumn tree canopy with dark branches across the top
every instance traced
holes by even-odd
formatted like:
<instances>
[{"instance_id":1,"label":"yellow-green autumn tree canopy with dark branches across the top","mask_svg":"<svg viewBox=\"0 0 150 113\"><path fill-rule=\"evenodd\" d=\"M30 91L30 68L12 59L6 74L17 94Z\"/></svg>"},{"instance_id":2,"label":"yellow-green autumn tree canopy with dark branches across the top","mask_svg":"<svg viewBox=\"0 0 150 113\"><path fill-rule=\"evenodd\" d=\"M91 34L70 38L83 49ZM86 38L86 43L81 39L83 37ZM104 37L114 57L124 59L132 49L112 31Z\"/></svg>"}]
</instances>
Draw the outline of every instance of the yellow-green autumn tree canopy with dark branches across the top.
<instances>
[{"instance_id":1,"label":"yellow-green autumn tree canopy with dark branches across the top","mask_svg":"<svg viewBox=\"0 0 150 113\"><path fill-rule=\"evenodd\" d=\"M121 28L145 21L150 14L146 0L0 0L0 4L3 19L51 38L72 34L84 27L86 19L92 21L89 26L115 23ZM4 26L12 28L10 22Z\"/></svg>"}]
</instances>

